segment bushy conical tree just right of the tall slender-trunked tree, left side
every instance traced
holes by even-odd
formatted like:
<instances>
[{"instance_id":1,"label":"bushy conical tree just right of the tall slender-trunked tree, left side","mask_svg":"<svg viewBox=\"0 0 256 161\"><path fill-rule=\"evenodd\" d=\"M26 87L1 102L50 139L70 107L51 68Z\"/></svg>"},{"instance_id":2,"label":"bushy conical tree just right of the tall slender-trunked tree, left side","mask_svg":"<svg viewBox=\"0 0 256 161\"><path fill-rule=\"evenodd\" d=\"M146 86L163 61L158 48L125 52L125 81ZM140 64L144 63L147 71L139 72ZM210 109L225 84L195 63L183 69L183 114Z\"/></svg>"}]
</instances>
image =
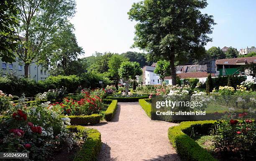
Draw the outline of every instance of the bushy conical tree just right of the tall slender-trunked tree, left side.
<instances>
[{"instance_id":1,"label":"bushy conical tree just right of the tall slender-trunked tree, left side","mask_svg":"<svg viewBox=\"0 0 256 161\"><path fill-rule=\"evenodd\" d=\"M77 44L73 24L67 21L57 26L50 42L48 49L44 51L47 52L46 57L50 66L61 68L62 72L59 74L72 74L69 71L72 65L75 65L74 61L77 60L77 56L84 53L82 47Z\"/></svg>"}]
</instances>

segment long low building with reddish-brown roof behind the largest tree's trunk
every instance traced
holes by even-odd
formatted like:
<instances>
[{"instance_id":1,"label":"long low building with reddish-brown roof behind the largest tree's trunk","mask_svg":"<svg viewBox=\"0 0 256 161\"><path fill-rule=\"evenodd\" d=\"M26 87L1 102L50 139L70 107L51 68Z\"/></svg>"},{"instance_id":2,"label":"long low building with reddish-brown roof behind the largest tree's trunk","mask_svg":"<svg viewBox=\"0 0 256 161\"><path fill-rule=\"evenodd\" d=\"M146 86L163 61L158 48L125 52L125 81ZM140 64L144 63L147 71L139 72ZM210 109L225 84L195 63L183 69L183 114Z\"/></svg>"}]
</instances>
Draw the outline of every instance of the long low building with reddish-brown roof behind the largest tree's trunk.
<instances>
[{"instance_id":1,"label":"long low building with reddish-brown roof behind the largest tree's trunk","mask_svg":"<svg viewBox=\"0 0 256 161\"><path fill-rule=\"evenodd\" d=\"M188 79L188 78L197 78L199 79L199 82L205 82L209 73L207 72L191 72L191 73L178 73L177 77L179 77L181 80ZM212 74L212 77L215 77L215 74ZM172 85L172 76L164 77L164 82L166 84Z\"/></svg>"}]
</instances>

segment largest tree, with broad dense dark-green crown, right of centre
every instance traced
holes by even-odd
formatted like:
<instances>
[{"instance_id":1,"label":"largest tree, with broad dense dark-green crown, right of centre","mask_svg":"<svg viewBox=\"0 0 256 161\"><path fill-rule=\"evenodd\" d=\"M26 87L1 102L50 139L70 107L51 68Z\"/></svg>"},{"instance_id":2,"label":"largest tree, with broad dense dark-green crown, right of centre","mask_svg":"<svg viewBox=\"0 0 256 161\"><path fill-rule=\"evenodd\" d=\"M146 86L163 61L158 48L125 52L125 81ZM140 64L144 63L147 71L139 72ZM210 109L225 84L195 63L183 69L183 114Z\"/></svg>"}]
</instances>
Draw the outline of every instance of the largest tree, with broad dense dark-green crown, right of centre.
<instances>
[{"instance_id":1,"label":"largest tree, with broad dense dark-green crown, right of centre","mask_svg":"<svg viewBox=\"0 0 256 161\"><path fill-rule=\"evenodd\" d=\"M179 55L197 57L215 25L212 15L202 14L205 0L144 0L133 3L128 12L136 20L133 47L144 49L152 57L170 62L172 84L176 84L174 61Z\"/></svg>"}]
</instances>

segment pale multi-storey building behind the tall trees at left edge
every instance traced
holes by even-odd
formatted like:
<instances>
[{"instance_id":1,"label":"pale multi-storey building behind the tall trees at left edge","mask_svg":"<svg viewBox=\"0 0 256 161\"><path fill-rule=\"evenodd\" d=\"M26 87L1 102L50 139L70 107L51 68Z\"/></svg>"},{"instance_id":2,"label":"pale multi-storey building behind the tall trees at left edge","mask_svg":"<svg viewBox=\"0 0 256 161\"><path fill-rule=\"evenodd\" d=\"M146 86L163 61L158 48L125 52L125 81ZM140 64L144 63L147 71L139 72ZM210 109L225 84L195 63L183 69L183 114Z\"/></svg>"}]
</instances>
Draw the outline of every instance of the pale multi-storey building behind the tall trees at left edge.
<instances>
[{"instance_id":1,"label":"pale multi-storey building behind the tall trees at left edge","mask_svg":"<svg viewBox=\"0 0 256 161\"><path fill-rule=\"evenodd\" d=\"M13 74L16 77L24 77L24 63L18 59L18 57L16 57L15 60L16 61L13 63L6 63L0 59L0 64L2 66L0 73L2 77L5 77L7 74ZM38 80L44 80L49 77L49 70L44 66L31 63L28 67L28 75L30 79L34 79L37 82Z\"/></svg>"}]
</instances>

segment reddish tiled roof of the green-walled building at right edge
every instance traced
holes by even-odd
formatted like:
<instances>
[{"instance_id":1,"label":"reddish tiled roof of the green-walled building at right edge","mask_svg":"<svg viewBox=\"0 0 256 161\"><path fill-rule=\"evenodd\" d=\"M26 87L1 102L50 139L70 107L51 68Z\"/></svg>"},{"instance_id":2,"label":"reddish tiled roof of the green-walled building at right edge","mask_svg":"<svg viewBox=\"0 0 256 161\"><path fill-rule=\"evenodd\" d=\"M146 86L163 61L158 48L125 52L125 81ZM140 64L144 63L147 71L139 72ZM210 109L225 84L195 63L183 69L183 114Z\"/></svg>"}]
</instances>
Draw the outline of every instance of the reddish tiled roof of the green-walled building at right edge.
<instances>
[{"instance_id":1,"label":"reddish tiled roof of the green-walled building at right edge","mask_svg":"<svg viewBox=\"0 0 256 161\"><path fill-rule=\"evenodd\" d=\"M244 57L244 58L231 58L231 59L217 59L216 65L237 65L237 62L256 63L256 56Z\"/></svg>"}]
</instances>

